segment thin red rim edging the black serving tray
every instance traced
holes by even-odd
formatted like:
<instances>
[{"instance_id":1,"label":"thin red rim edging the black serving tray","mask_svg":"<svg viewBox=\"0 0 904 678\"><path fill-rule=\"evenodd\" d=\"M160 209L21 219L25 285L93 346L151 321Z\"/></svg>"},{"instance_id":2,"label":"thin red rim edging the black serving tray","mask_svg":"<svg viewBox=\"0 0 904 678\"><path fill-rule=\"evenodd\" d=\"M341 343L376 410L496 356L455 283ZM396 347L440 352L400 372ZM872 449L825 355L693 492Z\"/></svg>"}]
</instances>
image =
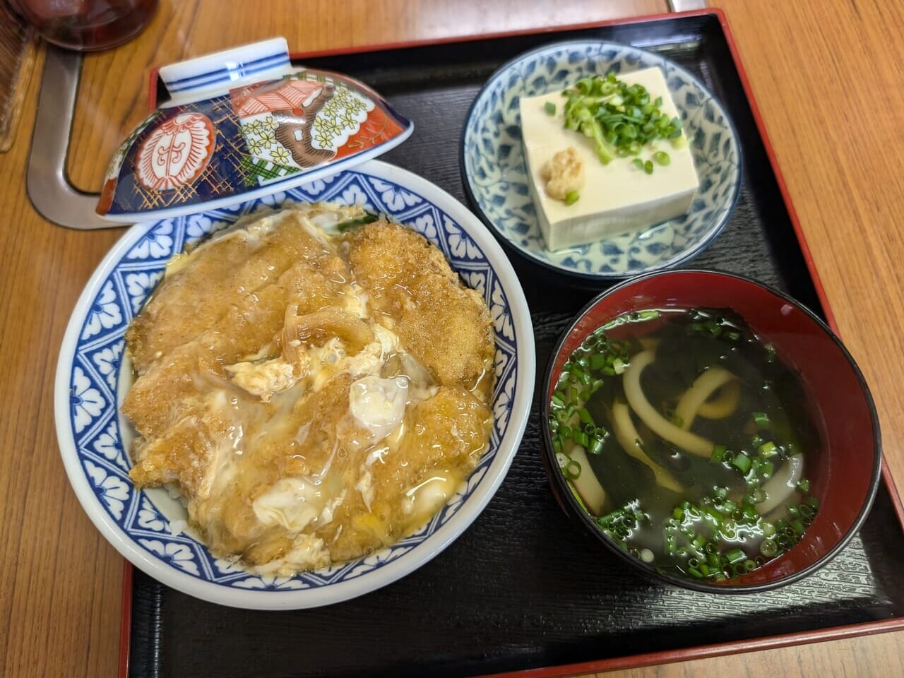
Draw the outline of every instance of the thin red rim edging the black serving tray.
<instances>
[{"instance_id":1,"label":"thin red rim edging the black serving tray","mask_svg":"<svg viewBox=\"0 0 904 678\"><path fill-rule=\"evenodd\" d=\"M598 28L601 26L612 26L619 24L643 24L645 22L660 21L662 19L672 19L683 16L706 16L713 15L719 20L722 33L728 42L731 52L731 60L734 62L738 71L741 85L744 88L744 94L748 99L750 110L753 118L757 123L757 131L759 137L763 141L766 148L766 154L769 158L769 165L772 172L776 176L778 190L782 194L782 200L785 202L785 208L791 219L791 225L794 227L797 242L800 245L801 252L804 255L807 271L810 278L813 279L813 285L816 290L816 296L823 306L825 319L835 334L839 334L838 325L835 323L832 307L829 306L829 300L825 296L825 288L822 279L819 277L819 271L816 268L813 255L810 253L810 247L806 242L803 229L801 229L800 221L797 218L797 212L794 203L791 202L791 194L788 193L785 177L782 175L778 166L778 159L772 143L769 140L766 130L766 122L759 113L757 99L753 96L753 89L747 77L747 71L740 60L738 46L734 41L734 35L728 22L728 17L719 7L709 7L705 9L689 10L686 12L670 12L663 14L645 14L643 16L631 16L620 19L607 19L605 21L588 22L585 24L565 24L555 26L545 26L541 28L527 28L517 31L506 31L496 33L477 33L472 35L448 36L432 40L412 40L400 42L381 42L372 45L355 45L352 47L342 47L330 50L317 50L313 52L292 52L292 59L315 58L324 56L335 56L339 54L356 54L362 52L384 52L388 50L404 49L407 47L419 47L429 44L444 44L449 42L476 42L480 40L494 40L499 38L511 38L517 35L534 35L538 33L563 33L565 31L574 31L585 28ZM156 107L156 83L158 68L149 71L149 106ZM894 479L884 457L882 458L882 480L886 485L886 489L891 497L891 504L898 516L898 521L904 530L904 504L898 494ZM127 678L129 652L131 649L131 629L132 629L132 563L128 560L124 561L123 566L123 589L122 589L122 605L121 619L119 630L119 678ZM712 645L692 645L676 650L663 650L659 652L628 654L623 657L611 657L608 659L600 659L590 662L581 662L578 664L558 664L555 666L546 666L536 669L526 669L523 671L513 671L506 673L487 673L475 678L553 678L568 675L578 675L582 673L598 673L605 671L616 671L618 669L636 668L641 666L651 666L655 664L672 664L675 662L686 662L695 659L706 659L709 657L723 656L727 654L742 654L748 652L757 652L761 650L771 650L780 647L788 647L791 645L808 645L811 643L822 643L830 640L841 640L843 638L852 638L856 636L872 636L880 633L888 633L904 629L904 617L893 619L884 619L881 621L865 622L862 624L849 624L846 626L830 626L827 628L817 628L810 631L799 631L796 633L783 634L780 636L762 636L758 638L749 638L748 640L729 641L726 643L716 643Z\"/></svg>"}]
</instances>

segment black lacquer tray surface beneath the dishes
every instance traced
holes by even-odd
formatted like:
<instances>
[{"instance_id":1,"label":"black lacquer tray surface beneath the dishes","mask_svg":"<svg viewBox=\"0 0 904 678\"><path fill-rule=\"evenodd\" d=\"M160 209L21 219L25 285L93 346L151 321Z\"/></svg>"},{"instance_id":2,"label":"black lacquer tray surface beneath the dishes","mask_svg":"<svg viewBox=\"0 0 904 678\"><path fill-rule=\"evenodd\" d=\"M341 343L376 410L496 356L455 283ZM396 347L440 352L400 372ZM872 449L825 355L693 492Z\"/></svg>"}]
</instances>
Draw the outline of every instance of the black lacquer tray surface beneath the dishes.
<instances>
[{"instance_id":1,"label":"black lacquer tray surface beneath the dishes","mask_svg":"<svg viewBox=\"0 0 904 678\"><path fill-rule=\"evenodd\" d=\"M478 89L504 61L570 38L663 52L702 78L734 119L746 166L736 211L693 266L757 278L831 321L718 11L299 61L349 73L380 91L417 126L385 159L464 201L459 145ZM511 256L531 306L542 374L560 332L602 287L564 287ZM523 444L485 512L435 560L372 594L331 607L258 612L190 598L129 567L122 673L451 678L541 669L532 676L557 675L904 627L898 573L904 532L889 483L886 472L859 536L807 579L748 596L677 589L626 570L562 513L541 463L535 398ZM702 639L712 645L700 646Z\"/></svg>"}]
</instances>

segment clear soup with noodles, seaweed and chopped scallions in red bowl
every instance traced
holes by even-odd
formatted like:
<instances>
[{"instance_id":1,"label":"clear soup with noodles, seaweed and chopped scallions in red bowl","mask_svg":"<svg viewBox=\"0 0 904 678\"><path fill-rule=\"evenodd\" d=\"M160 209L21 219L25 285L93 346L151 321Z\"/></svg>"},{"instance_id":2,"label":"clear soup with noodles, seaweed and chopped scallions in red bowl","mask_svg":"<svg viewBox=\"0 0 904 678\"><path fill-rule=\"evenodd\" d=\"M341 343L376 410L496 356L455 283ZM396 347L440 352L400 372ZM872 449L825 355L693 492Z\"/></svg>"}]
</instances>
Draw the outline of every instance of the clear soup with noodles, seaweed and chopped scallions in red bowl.
<instances>
[{"instance_id":1,"label":"clear soup with noodles, seaweed and chopped scallions in red bowl","mask_svg":"<svg viewBox=\"0 0 904 678\"><path fill-rule=\"evenodd\" d=\"M598 328L551 397L580 504L661 571L722 581L794 547L820 436L797 373L728 309L647 309Z\"/></svg>"}]
</instances>

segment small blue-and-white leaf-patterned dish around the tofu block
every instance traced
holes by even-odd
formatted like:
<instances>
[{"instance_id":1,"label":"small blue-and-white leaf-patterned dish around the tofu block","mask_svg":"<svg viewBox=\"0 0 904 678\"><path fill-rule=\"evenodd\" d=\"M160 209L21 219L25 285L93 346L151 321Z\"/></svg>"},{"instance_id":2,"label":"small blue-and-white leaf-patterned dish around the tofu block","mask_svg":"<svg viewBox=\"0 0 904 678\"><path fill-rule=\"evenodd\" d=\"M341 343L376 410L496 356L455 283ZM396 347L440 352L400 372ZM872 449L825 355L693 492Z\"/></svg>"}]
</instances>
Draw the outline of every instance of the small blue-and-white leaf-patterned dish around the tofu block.
<instances>
[{"instance_id":1,"label":"small blue-and-white leaf-patterned dish around the tofu block","mask_svg":"<svg viewBox=\"0 0 904 678\"><path fill-rule=\"evenodd\" d=\"M664 73L700 177L691 211L646 231L547 250L528 190L520 98L565 89L587 75L652 66ZM500 238L545 268L592 282L673 267L704 250L738 201L741 150L725 109L681 66L615 42L558 42L509 61L480 90L465 121L461 168L468 197Z\"/></svg>"}]
</instances>

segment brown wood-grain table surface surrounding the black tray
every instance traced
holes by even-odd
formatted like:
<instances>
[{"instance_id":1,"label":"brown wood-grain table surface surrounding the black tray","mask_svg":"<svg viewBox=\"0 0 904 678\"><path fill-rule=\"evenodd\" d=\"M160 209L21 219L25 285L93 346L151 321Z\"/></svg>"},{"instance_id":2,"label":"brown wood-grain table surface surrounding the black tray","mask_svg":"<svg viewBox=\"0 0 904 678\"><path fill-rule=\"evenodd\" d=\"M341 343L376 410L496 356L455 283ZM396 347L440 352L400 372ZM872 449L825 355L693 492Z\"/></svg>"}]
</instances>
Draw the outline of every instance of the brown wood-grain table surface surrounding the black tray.
<instances>
[{"instance_id":1,"label":"brown wood-grain table surface surrounding the black tray","mask_svg":"<svg viewBox=\"0 0 904 678\"><path fill-rule=\"evenodd\" d=\"M904 3L717 0L728 15L844 341L904 478ZM405 11L402 7L405 6ZM147 108L146 68L285 34L296 51L429 39L665 11L664 0L162 0L145 33L85 61L68 172L97 190L123 131ZM291 17L295 17L292 19ZM40 68L40 63L39 63ZM53 381L63 331L122 231L68 231L25 194L41 71L0 155L0 676L112 676L123 561L63 472ZM904 675L904 632L617 672L624 676ZM609 674L611 675L611 674Z\"/></svg>"}]
</instances>

